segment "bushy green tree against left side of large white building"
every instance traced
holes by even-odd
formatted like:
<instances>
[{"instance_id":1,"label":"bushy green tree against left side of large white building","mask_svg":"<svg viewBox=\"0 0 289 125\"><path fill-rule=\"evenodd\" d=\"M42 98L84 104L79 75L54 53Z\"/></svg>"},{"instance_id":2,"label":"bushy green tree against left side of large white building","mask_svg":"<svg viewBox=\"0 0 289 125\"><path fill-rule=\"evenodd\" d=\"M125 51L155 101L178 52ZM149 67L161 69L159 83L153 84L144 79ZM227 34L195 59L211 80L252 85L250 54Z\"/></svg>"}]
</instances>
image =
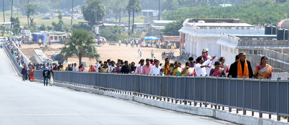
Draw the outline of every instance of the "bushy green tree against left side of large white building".
<instances>
[{"instance_id":1,"label":"bushy green tree against left side of large white building","mask_svg":"<svg viewBox=\"0 0 289 125\"><path fill-rule=\"evenodd\" d=\"M165 29L161 29L160 31L164 33L166 36L179 36L179 29L183 27L184 18L176 20L174 22L170 22L166 24Z\"/></svg>"}]
</instances>

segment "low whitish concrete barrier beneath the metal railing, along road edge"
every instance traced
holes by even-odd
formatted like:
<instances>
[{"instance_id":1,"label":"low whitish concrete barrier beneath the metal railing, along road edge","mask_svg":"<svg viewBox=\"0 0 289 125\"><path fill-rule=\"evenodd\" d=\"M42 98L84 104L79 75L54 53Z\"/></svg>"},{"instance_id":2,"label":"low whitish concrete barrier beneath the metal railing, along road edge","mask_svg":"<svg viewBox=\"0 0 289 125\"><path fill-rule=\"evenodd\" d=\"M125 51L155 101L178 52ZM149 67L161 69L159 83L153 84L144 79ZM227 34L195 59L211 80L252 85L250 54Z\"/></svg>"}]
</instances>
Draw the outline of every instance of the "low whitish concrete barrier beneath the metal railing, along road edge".
<instances>
[{"instance_id":1,"label":"low whitish concrete barrier beneath the metal railing, along road edge","mask_svg":"<svg viewBox=\"0 0 289 125\"><path fill-rule=\"evenodd\" d=\"M34 79L35 82L43 83L43 80ZM286 122L274 121L272 119L266 118L257 118L248 115L241 115L236 113L231 113L229 111L222 111L218 109L213 109L210 107L198 107L198 106L190 106L190 105L183 105L183 104L176 104L167 101L159 101L155 99L144 98L140 96L134 96L129 94L119 94L115 92L108 92L103 90L96 89L95 86L88 86L88 85L80 85L80 84L73 84L73 83L59 83L53 82L53 85L60 86L60 87L67 87L73 90L81 91L81 92L91 92L96 94L101 94L105 96L111 96L120 99L126 99L131 101L137 101L140 103L161 107L165 109L170 109L174 111L181 111L185 113L195 114L195 115L203 115L203 116L210 116L214 118L218 118L221 120L226 120L229 122L234 122L237 124L244 124L244 125L289 125Z\"/></svg>"}]
</instances>

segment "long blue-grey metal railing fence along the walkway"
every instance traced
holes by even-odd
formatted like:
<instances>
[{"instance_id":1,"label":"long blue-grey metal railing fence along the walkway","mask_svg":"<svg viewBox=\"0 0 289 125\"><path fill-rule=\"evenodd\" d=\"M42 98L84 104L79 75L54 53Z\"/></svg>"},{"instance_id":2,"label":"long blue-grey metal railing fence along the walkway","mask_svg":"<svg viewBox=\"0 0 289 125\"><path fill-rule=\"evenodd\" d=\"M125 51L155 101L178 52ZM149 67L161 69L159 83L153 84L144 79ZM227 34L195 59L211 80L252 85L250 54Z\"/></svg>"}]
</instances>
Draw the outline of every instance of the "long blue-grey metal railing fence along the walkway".
<instances>
[{"instance_id":1,"label":"long blue-grey metal railing fence along the walkway","mask_svg":"<svg viewBox=\"0 0 289 125\"><path fill-rule=\"evenodd\" d=\"M21 73L12 54L6 46L3 46L14 67ZM43 79L42 70L35 70L34 78ZM143 74L116 74L96 72L73 72L54 71L54 81L83 86L93 86L105 91L129 92L134 95L148 96L167 99L164 101L185 104L204 103L214 108L224 110L224 107L231 109L242 109L280 116L289 116L289 78L288 80L273 79L246 79L212 76L159 76ZM238 110L236 110L238 113ZM253 115L253 113L252 113ZM289 120L288 120L289 122Z\"/></svg>"}]
</instances>

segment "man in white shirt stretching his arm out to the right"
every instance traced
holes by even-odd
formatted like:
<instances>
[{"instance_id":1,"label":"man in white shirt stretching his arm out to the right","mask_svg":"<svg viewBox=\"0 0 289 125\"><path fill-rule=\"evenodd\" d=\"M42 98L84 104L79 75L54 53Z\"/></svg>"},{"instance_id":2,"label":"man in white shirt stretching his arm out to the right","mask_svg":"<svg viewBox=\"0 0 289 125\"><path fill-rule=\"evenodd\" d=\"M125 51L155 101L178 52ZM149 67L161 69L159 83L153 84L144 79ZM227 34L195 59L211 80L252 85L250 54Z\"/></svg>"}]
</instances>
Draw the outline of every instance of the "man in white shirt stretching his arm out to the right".
<instances>
[{"instance_id":1,"label":"man in white shirt stretching his arm out to the right","mask_svg":"<svg viewBox=\"0 0 289 125\"><path fill-rule=\"evenodd\" d=\"M199 56L197 58L197 64L195 65L195 72L196 72L196 75L197 76L205 76L207 73L206 73L206 69L205 67L209 67L211 68L208 64L211 62L212 59L216 58L216 55L211 57L210 59L204 61L203 57L202 56Z\"/></svg>"}]
</instances>

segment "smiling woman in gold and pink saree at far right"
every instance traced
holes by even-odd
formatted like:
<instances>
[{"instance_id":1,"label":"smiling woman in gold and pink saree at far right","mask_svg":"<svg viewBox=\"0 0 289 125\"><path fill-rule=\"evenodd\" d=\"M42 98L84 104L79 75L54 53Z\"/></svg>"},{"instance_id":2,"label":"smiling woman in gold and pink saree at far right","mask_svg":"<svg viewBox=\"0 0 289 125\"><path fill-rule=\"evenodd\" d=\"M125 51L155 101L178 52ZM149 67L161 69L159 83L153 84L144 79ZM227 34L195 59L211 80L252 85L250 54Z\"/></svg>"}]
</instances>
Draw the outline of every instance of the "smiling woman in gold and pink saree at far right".
<instances>
[{"instance_id":1,"label":"smiling woman in gold and pink saree at far right","mask_svg":"<svg viewBox=\"0 0 289 125\"><path fill-rule=\"evenodd\" d=\"M254 76L255 79L263 78L269 79L272 77L273 67L267 64L267 57L263 56L261 58L261 63L255 67Z\"/></svg>"}]
</instances>

